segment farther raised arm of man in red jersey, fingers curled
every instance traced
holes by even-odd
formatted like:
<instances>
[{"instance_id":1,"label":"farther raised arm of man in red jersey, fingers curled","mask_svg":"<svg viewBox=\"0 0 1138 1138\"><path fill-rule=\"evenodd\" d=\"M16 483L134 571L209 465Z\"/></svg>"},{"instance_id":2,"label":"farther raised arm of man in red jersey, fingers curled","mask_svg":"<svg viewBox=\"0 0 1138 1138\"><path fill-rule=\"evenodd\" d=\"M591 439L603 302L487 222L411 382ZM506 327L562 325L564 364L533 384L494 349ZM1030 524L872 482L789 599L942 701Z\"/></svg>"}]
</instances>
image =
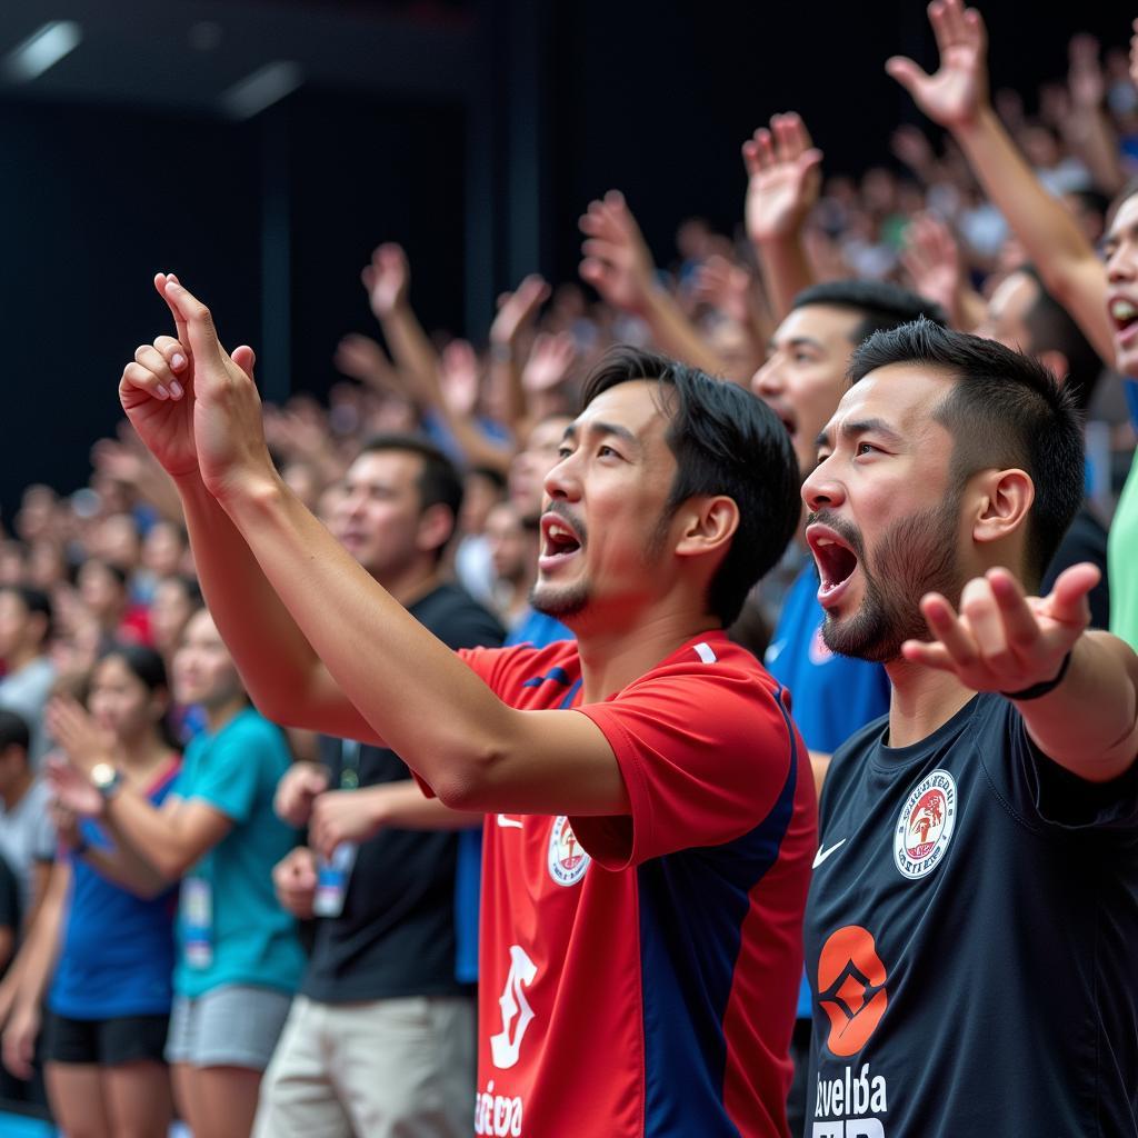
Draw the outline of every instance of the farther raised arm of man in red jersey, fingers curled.
<instances>
[{"instance_id":1,"label":"farther raised arm of man in red jersey, fingers curled","mask_svg":"<svg viewBox=\"0 0 1138 1138\"><path fill-rule=\"evenodd\" d=\"M170 280L162 273L155 278L164 299ZM139 437L174 479L206 603L247 691L258 706L266 699L291 704L316 729L371 741L371 727L331 681L245 539L201 481L193 437L195 361L185 346L185 323L176 312L174 325L176 338L159 336L137 349L123 371L118 396ZM236 348L226 358L251 374L251 348Z\"/></svg>"}]
</instances>

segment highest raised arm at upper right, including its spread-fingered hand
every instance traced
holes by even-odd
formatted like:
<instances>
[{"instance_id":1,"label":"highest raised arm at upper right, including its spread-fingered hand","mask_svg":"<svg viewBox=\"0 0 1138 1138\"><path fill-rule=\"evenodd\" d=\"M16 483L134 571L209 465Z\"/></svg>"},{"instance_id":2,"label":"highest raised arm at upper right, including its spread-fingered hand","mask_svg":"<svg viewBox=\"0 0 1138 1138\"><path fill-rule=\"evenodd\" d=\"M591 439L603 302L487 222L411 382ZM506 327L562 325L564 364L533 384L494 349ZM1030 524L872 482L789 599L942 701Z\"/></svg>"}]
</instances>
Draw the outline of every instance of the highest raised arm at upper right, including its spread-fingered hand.
<instances>
[{"instance_id":1,"label":"highest raised arm at upper right, including its spread-fingered hand","mask_svg":"<svg viewBox=\"0 0 1138 1138\"><path fill-rule=\"evenodd\" d=\"M940 50L937 73L926 75L900 56L890 59L885 71L933 122L953 132L1047 290L1067 308L1102 358L1113 360L1103 264L1074 217L1044 189L991 107L988 39L980 13L965 8L962 0L933 0L929 19Z\"/></svg>"}]
</instances>

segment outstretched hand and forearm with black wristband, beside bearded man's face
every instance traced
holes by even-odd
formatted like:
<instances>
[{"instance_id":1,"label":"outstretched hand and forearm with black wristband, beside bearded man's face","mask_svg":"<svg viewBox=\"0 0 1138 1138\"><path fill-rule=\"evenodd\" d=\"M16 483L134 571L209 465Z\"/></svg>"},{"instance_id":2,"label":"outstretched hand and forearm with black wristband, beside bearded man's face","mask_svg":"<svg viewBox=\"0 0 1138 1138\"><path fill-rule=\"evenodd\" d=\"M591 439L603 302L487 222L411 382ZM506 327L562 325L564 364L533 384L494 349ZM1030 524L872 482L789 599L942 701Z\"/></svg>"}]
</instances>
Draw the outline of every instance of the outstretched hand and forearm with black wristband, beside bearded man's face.
<instances>
[{"instance_id":1,"label":"outstretched hand and forearm with black wristband, beside bearded man's face","mask_svg":"<svg viewBox=\"0 0 1138 1138\"><path fill-rule=\"evenodd\" d=\"M990 569L965 585L959 616L930 594L921 611L934 642L907 641L905 659L1006 695L1044 754L1088 782L1116 778L1138 757L1138 657L1087 632L1098 577L1092 564L1072 566L1049 596L1025 597L1012 574Z\"/></svg>"}]
</instances>

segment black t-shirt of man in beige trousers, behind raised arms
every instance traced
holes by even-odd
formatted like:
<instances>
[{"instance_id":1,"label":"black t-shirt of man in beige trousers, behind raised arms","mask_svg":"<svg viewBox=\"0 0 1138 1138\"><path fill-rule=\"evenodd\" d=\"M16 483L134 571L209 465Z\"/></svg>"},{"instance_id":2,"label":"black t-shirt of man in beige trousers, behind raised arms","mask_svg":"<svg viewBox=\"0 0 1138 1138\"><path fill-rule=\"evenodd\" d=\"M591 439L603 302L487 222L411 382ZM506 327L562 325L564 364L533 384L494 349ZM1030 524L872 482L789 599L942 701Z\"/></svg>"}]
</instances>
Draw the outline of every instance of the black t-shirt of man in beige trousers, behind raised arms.
<instances>
[{"instance_id":1,"label":"black t-shirt of man in beige trousers, behind raised arms","mask_svg":"<svg viewBox=\"0 0 1138 1138\"><path fill-rule=\"evenodd\" d=\"M409 611L451 648L497 646L497 620L455 585L443 585ZM414 667L410 661L409 667ZM321 740L340 785L344 744ZM411 772L390 750L360 747L361 786L398 782ZM454 976L454 865L450 831L382 830L360 846L338 917L316 921L300 990L323 1003L438 996L464 991Z\"/></svg>"}]
</instances>

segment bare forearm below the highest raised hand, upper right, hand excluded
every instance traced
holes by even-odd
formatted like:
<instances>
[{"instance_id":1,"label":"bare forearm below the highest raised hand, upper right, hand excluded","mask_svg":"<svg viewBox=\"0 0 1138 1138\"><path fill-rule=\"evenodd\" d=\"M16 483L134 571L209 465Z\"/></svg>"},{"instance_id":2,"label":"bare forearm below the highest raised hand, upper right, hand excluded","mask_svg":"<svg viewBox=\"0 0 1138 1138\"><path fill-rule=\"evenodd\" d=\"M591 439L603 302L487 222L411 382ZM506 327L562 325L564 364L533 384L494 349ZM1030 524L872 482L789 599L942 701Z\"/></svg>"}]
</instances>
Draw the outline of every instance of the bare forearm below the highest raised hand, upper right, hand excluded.
<instances>
[{"instance_id":1,"label":"bare forearm below the highest raised hand, upper right, hand excluded","mask_svg":"<svg viewBox=\"0 0 1138 1138\"><path fill-rule=\"evenodd\" d=\"M991 107L953 133L1048 291L1070 310L1099 356L1113 360L1106 273L1074 217L1036 178Z\"/></svg>"}]
</instances>

